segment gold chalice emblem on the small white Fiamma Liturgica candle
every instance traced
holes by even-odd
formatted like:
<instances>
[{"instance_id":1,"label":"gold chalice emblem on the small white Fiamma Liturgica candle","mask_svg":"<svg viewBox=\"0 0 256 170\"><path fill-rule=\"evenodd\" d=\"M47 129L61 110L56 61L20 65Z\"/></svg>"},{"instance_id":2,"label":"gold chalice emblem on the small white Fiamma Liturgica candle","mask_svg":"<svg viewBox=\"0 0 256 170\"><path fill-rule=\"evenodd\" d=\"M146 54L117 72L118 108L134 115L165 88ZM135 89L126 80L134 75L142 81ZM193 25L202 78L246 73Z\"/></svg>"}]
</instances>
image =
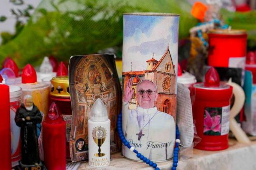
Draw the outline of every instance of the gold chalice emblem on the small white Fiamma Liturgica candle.
<instances>
[{"instance_id":1,"label":"gold chalice emblem on the small white Fiamma Liturgica candle","mask_svg":"<svg viewBox=\"0 0 256 170\"><path fill-rule=\"evenodd\" d=\"M102 146L102 144L105 142L106 136L107 130L102 126L94 127L92 130L93 140L99 147L98 153L94 154L96 157L102 157L105 155L105 153L101 153L100 146Z\"/></svg>"}]
</instances>

